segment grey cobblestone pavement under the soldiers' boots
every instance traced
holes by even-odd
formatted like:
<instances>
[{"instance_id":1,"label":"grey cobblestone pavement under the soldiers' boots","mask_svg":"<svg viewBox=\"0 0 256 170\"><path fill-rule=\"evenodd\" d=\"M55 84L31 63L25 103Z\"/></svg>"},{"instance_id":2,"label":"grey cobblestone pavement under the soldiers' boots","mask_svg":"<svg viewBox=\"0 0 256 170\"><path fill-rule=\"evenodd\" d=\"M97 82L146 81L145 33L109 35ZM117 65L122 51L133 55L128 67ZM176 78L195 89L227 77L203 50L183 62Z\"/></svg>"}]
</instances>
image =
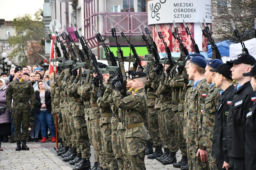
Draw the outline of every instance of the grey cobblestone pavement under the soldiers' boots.
<instances>
[{"instance_id":1,"label":"grey cobblestone pavement under the soldiers' boots","mask_svg":"<svg viewBox=\"0 0 256 170\"><path fill-rule=\"evenodd\" d=\"M10 141L10 139L9 139ZM3 170L33 170L33 169L52 169L52 170L72 170L74 166L68 162L63 162L54 147L56 143L47 141L46 143L40 142L27 142L29 151L15 151L16 143L1 143L3 151L0 151L0 169ZM177 153L177 161L181 159L180 151ZM94 165L94 152L91 146L91 167ZM147 170L179 170L172 165L162 165L155 159L145 158Z\"/></svg>"}]
</instances>

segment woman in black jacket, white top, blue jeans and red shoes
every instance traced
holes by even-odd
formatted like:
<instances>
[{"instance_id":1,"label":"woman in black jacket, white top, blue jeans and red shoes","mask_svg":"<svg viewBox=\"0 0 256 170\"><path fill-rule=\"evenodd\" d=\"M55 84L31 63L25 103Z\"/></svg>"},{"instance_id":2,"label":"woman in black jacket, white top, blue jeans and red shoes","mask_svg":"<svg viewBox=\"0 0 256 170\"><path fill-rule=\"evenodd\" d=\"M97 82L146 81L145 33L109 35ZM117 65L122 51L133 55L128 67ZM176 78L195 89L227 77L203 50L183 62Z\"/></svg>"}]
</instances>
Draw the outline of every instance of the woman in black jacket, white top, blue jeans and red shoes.
<instances>
[{"instance_id":1,"label":"woman in black jacket, white top, blue jeans and red shoes","mask_svg":"<svg viewBox=\"0 0 256 170\"><path fill-rule=\"evenodd\" d=\"M46 142L46 124L52 135L52 142L56 141L55 126L52 116L51 93L45 90L43 80L38 81L38 90L35 91L35 113L38 114L40 130Z\"/></svg>"}]
</instances>

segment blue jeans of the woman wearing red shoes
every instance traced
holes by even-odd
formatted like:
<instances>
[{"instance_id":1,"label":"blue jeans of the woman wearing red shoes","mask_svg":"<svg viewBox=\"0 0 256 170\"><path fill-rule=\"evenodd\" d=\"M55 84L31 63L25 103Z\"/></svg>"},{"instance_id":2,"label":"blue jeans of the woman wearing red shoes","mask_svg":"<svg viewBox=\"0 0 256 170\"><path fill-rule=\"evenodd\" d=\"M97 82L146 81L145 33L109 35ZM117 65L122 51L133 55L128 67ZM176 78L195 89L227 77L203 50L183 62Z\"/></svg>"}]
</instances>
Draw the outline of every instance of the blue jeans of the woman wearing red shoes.
<instances>
[{"instance_id":1,"label":"blue jeans of the woman wearing red shoes","mask_svg":"<svg viewBox=\"0 0 256 170\"><path fill-rule=\"evenodd\" d=\"M46 124L51 132L51 136L55 137L55 126L54 126L54 121L53 121L53 115L47 110L45 111L40 111L40 113L37 115L39 118L40 122L40 129L42 133L42 137L46 137Z\"/></svg>"}]
</instances>

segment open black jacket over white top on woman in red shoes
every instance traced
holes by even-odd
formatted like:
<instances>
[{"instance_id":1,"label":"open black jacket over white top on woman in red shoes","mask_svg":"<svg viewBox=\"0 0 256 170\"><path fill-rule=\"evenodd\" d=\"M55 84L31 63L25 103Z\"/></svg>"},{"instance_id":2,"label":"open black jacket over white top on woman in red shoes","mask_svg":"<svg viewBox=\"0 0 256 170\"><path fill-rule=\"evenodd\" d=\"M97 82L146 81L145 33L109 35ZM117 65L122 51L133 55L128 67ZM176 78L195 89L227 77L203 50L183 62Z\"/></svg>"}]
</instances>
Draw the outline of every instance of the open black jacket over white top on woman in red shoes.
<instances>
[{"instance_id":1,"label":"open black jacket over white top on woman in red shoes","mask_svg":"<svg viewBox=\"0 0 256 170\"><path fill-rule=\"evenodd\" d=\"M45 105L47 112L52 113L52 104L51 104L51 93L49 91L45 91ZM42 106L41 99L40 99L40 92L37 90L35 91L35 113L40 113L40 108Z\"/></svg>"}]
</instances>

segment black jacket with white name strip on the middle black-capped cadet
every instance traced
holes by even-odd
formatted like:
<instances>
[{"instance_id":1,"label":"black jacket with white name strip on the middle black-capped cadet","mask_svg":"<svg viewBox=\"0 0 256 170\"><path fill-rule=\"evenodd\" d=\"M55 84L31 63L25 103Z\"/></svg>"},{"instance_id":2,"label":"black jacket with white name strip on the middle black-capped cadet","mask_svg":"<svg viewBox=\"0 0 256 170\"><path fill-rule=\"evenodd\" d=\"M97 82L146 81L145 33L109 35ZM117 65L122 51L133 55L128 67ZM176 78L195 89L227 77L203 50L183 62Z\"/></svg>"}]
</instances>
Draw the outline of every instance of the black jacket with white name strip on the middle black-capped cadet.
<instances>
[{"instance_id":1,"label":"black jacket with white name strip on the middle black-capped cadet","mask_svg":"<svg viewBox=\"0 0 256 170\"><path fill-rule=\"evenodd\" d=\"M229 108L227 122L227 148L228 156L234 158L245 157L245 120L246 114L253 107L252 99L255 92L250 81L235 91Z\"/></svg>"}]
</instances>

